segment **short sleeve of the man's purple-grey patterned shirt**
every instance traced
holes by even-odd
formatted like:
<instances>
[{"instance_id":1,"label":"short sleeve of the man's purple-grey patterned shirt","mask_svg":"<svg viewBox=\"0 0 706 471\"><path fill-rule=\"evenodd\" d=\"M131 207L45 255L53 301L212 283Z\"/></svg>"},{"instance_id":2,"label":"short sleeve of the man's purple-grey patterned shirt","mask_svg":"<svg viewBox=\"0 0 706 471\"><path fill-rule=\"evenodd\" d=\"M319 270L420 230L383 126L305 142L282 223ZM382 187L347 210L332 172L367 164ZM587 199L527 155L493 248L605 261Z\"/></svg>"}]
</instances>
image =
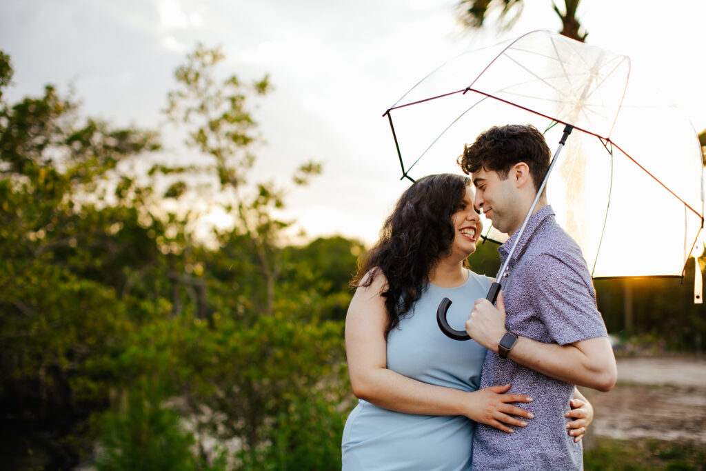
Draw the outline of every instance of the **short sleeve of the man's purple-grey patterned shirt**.
<instances>
[{"instance_id":1,"label":"short sleeve of the man's purple-grey patterned shirt","mask_svg":"<svg viewBox=\"0 0 706 471\"><path fill-rule=\"evenodd\" d=\"M544 253L534 261L533 271L534 302L554 342L566 345L608 336L582 260L562 251Z\"/></svg>"}]
</instances>

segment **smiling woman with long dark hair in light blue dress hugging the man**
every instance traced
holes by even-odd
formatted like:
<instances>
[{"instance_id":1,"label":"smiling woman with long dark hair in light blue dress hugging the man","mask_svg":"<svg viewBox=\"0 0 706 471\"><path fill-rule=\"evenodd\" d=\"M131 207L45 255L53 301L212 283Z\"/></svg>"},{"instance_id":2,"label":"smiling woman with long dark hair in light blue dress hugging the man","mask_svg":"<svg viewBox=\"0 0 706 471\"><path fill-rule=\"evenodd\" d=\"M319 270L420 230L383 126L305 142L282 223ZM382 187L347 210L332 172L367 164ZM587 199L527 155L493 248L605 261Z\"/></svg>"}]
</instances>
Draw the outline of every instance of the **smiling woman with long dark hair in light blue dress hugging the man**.
<instances>
[{"instance_id":1,"label":"smiling woman with long dark hair in light blue dress hugging the man","mask_svg":"<svg viewBox=\"0 0 706 471\"><path fill-rule=\"evenodd\" d=\"M344 470L466 470L475 422L513 433L532 419L511 404L532 398L503 394L510 385L478 390L484 347L436 325L443 297L453 299L449 323L461 326L491 284L464 266L482 230L472 201L467 177L419 179L359 264L345 337L360 400L343 431ZM577 397L568 433L578 441L593 412Z\"/></svg>"}]
</instances>

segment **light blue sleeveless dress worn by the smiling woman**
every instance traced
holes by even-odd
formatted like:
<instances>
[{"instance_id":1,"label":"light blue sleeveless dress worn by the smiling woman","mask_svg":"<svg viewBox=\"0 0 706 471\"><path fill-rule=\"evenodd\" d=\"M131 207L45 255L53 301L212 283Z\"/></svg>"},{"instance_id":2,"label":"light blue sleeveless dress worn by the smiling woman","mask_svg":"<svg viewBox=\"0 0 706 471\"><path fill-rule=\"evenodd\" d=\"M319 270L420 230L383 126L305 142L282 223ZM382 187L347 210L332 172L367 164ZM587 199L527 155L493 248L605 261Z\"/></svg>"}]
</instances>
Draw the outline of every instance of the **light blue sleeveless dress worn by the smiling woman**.
<instances>
[{"instance_id":1,"label":"light blue sleeveless dress worn by the smiling woman","mask_svg":"<svg viewBox=\"0 0 706 471\"><path fill-rule=\"evenodd\" d=\"M469 271L464 285L429 285L388 337L388 369L425 383L465 391L478 389L486 349L474 340L446 337L436 308L448 297L448 322L463 330L476 299L491 280ZM476 424L463 416L412 415L383 409L365 400L348 416L342 438L345 471L469 470Z\"/></svg>"}]
</instances>

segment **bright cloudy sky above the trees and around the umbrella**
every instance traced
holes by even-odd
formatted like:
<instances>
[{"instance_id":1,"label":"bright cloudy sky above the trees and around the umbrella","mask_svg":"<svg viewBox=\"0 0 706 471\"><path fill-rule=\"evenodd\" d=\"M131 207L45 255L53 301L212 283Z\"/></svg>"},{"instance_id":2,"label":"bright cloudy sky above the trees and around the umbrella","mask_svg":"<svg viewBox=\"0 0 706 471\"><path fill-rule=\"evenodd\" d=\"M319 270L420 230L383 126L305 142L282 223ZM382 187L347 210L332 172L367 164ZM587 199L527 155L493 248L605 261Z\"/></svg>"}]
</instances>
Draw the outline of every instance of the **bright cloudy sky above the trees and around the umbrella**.
<instances>
[{"instance_id":1,"label":"bright cloudy sky above the trees and around the umbrella","mask_svg":"<svg viewBox=\"0 0 706 471\"><path fill-rule=\"evenodd\" d=\"M87 116L156 128L174 69L198 42L220 46L222 73L269 74L274 86L253 111L265 139L253 179L285 186L299 164L322 162L310 186L289 190L283 217L309 237L371 243L409 185L385 109L460 52L561 28L551 0L529 0L513 28L469 32L456 3L0 0L0 49L15 69L6 100L53 83L73 87ZM633 73L649 76L695 131L706 129L706 1L584 0L578 18L589 44L630 56ZM169 139L167 152L179 155Z\"/></svg>"}]
</instances>

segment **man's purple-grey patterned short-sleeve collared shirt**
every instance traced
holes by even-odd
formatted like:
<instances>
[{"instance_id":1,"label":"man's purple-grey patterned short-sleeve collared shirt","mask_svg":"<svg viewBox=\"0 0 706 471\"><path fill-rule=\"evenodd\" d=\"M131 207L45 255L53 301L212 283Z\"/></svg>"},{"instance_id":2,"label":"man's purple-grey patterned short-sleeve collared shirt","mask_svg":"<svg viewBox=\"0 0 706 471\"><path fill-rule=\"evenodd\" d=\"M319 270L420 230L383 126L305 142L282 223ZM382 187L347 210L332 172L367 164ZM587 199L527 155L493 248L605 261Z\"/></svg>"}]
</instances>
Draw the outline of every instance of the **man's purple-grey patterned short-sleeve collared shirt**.
<instances>
[{"instance_id":1,"label":"man's purple-grey patterned short-sleeve collared shirt","mask_svg":"<svg viewBox=\"0 0 706 471\"><path fill-rule=\"evenodd\" d=\"M507 259L517 232L498 251ZM561 229L551 206L534 213L501 281L511 332L539 342L568 343L607 336L597 310L592 280L574 240ZM566 431L574 385L532 369L486 354L481 388L512 383L510 393L531 395L534 419L527 427L507 434L478 424L473 446L473 467L479 470L582 469L582 444Z\"/></svg>"}]
</instances>

